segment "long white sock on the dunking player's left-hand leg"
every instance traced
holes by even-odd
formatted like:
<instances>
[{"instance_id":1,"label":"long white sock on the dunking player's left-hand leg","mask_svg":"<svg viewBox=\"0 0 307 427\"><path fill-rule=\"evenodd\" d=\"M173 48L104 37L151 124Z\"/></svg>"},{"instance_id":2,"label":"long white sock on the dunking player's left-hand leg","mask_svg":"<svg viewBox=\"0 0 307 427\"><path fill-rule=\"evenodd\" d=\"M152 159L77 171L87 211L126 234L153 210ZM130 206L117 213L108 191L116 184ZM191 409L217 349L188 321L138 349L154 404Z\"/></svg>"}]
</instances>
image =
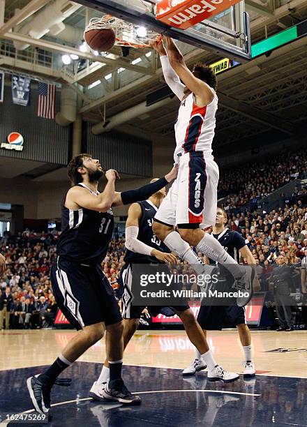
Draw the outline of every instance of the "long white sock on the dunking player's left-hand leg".
<instances>
[{"instance_id":1,"label":"long white sock on the dunking player's left-hand leg","mask_svg":"<svg viewBox=\"0 0 307 427\"><path fill-rule=\"evenodd\" d=\"M197 275L209 274L209 270L211 271L209 266L204 264L202 260L197 257L196 253L190 248L188 242L184 241L179 233L175 231L170 232L170 234L167 234L167 237L165 237L163 243L167 248L172 250L172 252L177 253L181 260L188 262Z\"/></svg>"}]
</instances>

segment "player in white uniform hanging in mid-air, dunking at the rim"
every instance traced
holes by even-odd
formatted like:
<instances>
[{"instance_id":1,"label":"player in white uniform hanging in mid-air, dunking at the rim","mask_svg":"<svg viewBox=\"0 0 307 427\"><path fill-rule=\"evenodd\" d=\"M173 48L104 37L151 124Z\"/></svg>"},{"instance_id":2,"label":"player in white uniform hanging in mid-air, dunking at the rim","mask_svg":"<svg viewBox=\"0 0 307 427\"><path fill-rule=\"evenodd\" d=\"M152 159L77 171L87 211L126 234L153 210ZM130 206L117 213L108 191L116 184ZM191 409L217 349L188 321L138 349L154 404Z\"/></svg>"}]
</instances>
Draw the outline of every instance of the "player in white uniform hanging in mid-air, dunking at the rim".
<instances>
[{"instance_id":1,"label":"player in white uniform hanging in mid-air, dunking at the rim","mask_svg":"<svg viewBox=\"0 0 307 427\"><path fill-rule=\"evenodd\" d=\"M238 304L244 306L252 295L253 269L239 266L213 236L202 230L214 225L216 218L219 172L211 149L218 109L216 75L202 65L196 65L191 72L172 38L164 36L163 40L166 50L159 41L151 45L160 55L165 81L181 100L174 151L179 173L156 213L153 231L197 272L201 270L197 267L199 260L190 246L225 264L237 280L237 287L248 292L248 297L238 299ZM179 233L174 231L174 225Z\"/></svg>"}]
</instances>

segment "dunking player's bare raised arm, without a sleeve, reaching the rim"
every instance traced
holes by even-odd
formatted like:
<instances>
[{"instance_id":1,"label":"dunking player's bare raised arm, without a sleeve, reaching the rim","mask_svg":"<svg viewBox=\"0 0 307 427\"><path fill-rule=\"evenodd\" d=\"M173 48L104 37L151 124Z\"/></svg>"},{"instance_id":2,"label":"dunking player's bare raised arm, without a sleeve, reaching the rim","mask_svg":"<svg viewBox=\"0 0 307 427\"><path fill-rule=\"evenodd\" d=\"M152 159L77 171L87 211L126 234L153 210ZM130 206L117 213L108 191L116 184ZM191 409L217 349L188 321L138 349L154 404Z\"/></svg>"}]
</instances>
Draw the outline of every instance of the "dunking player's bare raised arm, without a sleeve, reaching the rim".
<instances>
[{"instance_id":1,"label":"dunking player's bare raised arm, without a sleeve, reaching the rim","mask_svg":"<svg viewBox=\"0 0 307 427\"><path fill-rule=\"evenodd\" d=\"M211 89L209 84L200 80L196 77L186 66L184 57L179 51L177 45L175 45L172 38L163 36L163 40L166 42L167 55L170 61L170 66L174 69L175 73L184 82L186 87L194 93L196 105L198 107L204 107L209 105L214 99L214 90ZM195 74L197 74L195 72Z\"/></svg>"}]
</instances>

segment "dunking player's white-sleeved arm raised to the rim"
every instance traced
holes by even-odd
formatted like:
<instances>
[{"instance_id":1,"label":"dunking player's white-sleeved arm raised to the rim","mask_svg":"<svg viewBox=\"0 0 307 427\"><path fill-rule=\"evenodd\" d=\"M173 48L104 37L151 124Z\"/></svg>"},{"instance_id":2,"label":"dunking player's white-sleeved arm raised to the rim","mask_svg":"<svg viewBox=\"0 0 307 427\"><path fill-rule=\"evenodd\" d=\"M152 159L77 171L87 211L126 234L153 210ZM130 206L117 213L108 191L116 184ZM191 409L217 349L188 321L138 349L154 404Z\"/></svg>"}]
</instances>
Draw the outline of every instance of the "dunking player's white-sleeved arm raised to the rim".
<instances>
[{"instance_id":1,"label":"dunking player's white-sleeved arm raised to the rim","mask_svg":"<svg viewBox=\"0 0 307 427\"><path fill-rule=\"evenodd\" d=\"M149 45L156 50L160 56L161 66L163 70L163 76L165 78L165 82L170 87L170 89L174 92L174 94L182 100L184 98L184 84L181 83L178 75L174 72L173 68L170 66L170 61L167 57L167 53L165 47L163 45L163 41L158 40L150 40Z\"/></svg>"}]
</instances>

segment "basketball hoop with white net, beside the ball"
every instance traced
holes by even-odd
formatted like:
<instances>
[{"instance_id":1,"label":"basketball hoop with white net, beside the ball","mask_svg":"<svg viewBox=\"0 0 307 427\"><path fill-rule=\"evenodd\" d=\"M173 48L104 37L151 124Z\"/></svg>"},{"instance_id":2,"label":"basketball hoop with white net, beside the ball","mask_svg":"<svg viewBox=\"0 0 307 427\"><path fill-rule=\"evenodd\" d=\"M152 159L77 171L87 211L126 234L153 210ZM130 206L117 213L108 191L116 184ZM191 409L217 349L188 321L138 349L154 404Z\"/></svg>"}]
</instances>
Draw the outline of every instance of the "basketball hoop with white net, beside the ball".
<instances>
[{"instance_id":1,"label":"basketball hoop with white net, beside the ball","mask_svg":"<svg viewBox=\"0 0 307 427\"><path fill-rule=\"evenodd\" d=\"M141 27L141 26L140 26ZM160 34L150 30L146 30L146 34L137 34L140 28L130 22L120 20L111 15L105 15L102 18L93 17L89 21L89 25L84 31L100 30L100 29L113 29L115 33L115 45L134 47L149 47L149 40L156 40Z\"/></svg>"}]
</instances>

